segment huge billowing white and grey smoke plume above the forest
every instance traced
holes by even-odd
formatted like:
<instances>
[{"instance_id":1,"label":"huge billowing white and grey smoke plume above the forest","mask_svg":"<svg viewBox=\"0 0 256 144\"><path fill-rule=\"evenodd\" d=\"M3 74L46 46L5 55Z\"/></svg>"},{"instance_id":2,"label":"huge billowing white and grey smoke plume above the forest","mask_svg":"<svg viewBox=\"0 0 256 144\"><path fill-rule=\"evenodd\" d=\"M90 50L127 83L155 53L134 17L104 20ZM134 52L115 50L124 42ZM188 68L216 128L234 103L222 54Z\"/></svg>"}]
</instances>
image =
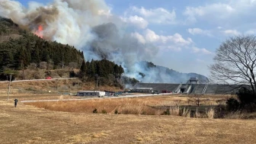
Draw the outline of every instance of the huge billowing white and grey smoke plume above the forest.
<instances>
[{"instance_id":1,"label":"huge billowing white and grey smoke plume above the forest","mask_svg":"<svg viewBox=\"0 0 256 144\"><path fill-rule=\"evenodd\" d=\"M160 69L146 69L158 47L143 40L127 27L122 18L111 14L104 0L54 0L47 5L0 0L0 16L11 18L21 28L34 34L40 30L45 40L68 43L83 50L85 59L108 59L124 67L126 75L140 82L170 82L170 75ZM146 74L142 78L139 72ZM159 77L160 75L160 77ZM165 75L164 78L161 75Z\"/></svg>"}]
</instances>

